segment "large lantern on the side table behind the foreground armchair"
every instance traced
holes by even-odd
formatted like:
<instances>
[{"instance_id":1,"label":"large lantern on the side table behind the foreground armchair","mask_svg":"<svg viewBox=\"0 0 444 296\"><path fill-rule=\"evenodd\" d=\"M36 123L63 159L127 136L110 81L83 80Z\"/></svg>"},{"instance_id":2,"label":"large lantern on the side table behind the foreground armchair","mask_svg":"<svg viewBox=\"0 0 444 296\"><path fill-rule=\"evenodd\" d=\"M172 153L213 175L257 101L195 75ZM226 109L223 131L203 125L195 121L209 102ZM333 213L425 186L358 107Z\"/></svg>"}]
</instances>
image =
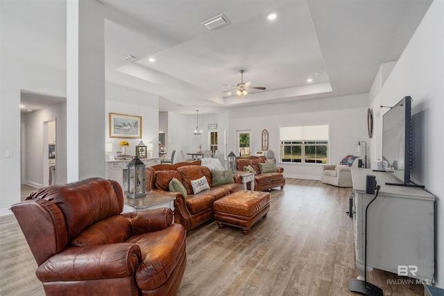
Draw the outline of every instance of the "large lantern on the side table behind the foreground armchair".
<instances>
[{"instance_id":1,"label":"large lantern on the side table behind the foreground armchair","mask_svg":"<svg viewBox=\"0 0 444 296\"><path fill-rule=\"evenodd\" d=\"M145 196L145 164L136 155L128 164L128 198Z\"/></svg>"}]
</instances>

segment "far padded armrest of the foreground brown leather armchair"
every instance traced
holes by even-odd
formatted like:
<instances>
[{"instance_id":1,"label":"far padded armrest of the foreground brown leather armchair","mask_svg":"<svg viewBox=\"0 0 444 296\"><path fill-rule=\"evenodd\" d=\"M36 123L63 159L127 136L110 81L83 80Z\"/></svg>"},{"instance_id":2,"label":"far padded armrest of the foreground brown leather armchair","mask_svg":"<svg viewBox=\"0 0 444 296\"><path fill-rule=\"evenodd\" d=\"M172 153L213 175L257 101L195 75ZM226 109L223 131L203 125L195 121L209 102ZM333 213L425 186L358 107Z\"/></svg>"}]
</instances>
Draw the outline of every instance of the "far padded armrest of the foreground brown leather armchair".
<instances>
[{"instance_id":1,"label":"far padded armrest of the foreground brown leather armchair","mask_svg":"<svg viewBox=\"0 0 444 296\"><path fill-rule=\"evenodd\" d=\"M133 227L133 234L155 232L168 228L173 223L173 211L169 208L132 211L130 213L123 213L122 216L130 221L131 227Z\"/></svg>"}]
</instances>

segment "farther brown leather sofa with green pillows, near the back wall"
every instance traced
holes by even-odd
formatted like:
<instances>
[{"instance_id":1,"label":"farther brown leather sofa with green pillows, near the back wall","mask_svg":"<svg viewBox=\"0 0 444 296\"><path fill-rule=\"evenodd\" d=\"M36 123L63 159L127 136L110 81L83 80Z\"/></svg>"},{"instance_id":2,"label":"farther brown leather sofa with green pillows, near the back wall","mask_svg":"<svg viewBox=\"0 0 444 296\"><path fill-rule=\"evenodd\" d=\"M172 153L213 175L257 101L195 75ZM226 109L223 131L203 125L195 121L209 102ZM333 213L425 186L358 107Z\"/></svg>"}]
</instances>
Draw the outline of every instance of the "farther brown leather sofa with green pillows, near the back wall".
<instances>
[{"instance_id":1,"label":"farther brown leather sofa with green pillows, near the back wall","mask_svg":"<svg viewBox=\"0 0 444 296\"><path fill-rule=\"evenodd\" d=\"M266 163L266 157L264 156L249 156L238 157L236 159L237 171L244 171L245 166L252 166L255 171L255 191L262 191L272 189L273 187L284 188L284 168L276 168L276 173L261 173L259 163ZM250 189L250 184L247 184Z\"/></svg>"}]
</instances>

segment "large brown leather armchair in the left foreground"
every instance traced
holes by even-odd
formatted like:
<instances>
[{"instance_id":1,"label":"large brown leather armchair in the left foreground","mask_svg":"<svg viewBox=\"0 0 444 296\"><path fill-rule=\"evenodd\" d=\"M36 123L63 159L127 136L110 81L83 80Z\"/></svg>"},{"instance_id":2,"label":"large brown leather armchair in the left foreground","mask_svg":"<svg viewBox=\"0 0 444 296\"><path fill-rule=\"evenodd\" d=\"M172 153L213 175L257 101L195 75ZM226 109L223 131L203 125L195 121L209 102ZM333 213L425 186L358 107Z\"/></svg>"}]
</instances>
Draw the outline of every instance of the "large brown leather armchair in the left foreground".
<instances>
[{"instance_id":1,"label":"large brown leather armchair in the left foreground","mask_svg":"<svg viewBox=\"0 0 444 296\"><path fill-rule=\"evenodd\" d=\"M46 295L176 295L187 256L171 209L121 214L113 180L34 191L11 207Z\"/></svg>"}]
</instances>

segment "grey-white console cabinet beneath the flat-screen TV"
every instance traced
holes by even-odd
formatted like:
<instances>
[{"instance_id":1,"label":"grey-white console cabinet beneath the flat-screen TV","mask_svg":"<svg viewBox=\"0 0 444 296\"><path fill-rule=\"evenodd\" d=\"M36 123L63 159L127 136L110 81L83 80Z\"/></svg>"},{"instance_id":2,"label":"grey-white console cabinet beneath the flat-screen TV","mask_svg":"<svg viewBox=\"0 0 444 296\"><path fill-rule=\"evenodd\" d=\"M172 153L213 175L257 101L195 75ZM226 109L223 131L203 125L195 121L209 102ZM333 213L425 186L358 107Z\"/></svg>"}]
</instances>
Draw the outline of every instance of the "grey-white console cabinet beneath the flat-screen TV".
<instances>
[{"instance_id":1,"label":"grey-white console cabinet beneath the flat-screen TV","mask_svg":"<svg viewBox=\"0 0 444 296\"><path fill-rule=\"evenodd\" d=\"M364 279L366 175L381 186L368 208L367 267L431 283L434 277L434 195L424 189L386 185L397 182L391 173L352 168L353 226L358 279ZM398 267L400 266L400 268ZM406 274L407 273L407 274Z\"/></svg>"}]
</instances>

